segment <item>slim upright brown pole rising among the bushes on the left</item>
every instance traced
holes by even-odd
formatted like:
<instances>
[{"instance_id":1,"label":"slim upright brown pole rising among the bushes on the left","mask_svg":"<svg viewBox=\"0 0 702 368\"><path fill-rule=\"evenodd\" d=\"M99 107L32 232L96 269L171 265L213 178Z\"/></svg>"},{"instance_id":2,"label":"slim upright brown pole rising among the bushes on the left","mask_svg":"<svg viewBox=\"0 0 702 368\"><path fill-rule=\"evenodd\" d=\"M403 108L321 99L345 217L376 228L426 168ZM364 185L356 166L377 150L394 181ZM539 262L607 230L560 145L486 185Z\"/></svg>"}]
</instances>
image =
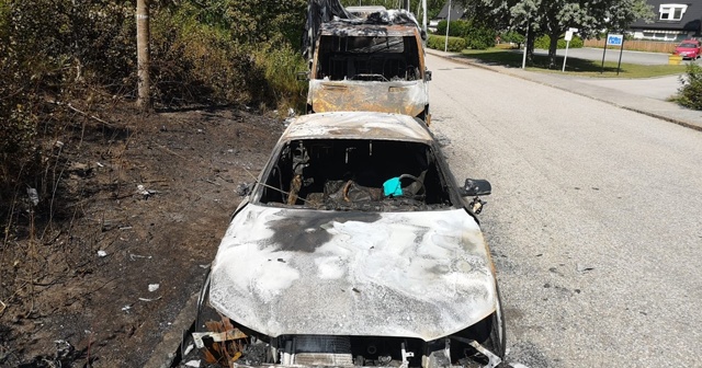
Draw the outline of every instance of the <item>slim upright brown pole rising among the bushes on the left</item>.
<instances>
[{"instance_id":1,"label":"slim upright brown pole rising among the bushes on the left","mask_svg":"<svg viewBox=\"0 0 702 368\"><path fill-rule=\"evenodd\" d=\"M151 108L149 89L149 0L136 0L136 48L137 48L137 77L139 96L136 104L143 111Z\"/></svg>"}]
</instances>

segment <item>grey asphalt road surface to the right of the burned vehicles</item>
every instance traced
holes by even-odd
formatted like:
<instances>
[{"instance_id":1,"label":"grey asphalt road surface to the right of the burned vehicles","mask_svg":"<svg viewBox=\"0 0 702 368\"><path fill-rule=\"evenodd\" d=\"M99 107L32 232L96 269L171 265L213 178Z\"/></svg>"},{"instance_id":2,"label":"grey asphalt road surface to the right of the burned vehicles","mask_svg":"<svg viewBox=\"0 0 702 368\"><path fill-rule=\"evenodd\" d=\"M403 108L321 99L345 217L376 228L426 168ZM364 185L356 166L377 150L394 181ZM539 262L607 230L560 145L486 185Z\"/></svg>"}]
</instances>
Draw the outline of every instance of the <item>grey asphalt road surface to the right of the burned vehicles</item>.
<instances>
[{"instance_id":1,"label":"grey asphalt road surface to the right of the burned vehicles","mask_svg":"<svg viewBox=\"0 0 702 368\"><path fill-rule=\"evenodd\" d=\"M480 215L508 361L693 367L702 350L702 133L429 56L432 130Z\"/></svg>"}]
</instances>

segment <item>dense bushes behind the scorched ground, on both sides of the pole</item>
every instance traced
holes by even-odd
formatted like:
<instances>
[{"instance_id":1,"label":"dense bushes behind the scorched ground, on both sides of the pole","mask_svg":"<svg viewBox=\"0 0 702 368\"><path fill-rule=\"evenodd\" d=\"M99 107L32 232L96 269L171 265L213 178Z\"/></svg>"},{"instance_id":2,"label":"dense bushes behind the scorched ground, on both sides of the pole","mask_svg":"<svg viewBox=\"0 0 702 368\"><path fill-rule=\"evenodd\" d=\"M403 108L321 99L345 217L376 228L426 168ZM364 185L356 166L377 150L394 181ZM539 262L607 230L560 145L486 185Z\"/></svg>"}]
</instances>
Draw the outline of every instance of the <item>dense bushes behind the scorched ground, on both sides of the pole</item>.
<instances>
[{"instance_id":1,"label":"dense bushes behind the scorched ground, on both sides of the pole","mask_svg":"<svg viewBox=\"0 0 702 368\"><path fill-rule=\"evenodd\" d=\"M294 71L304 69L296 49L306 4L151 1L156 102L298 104L304 87ZM73 123L68 103L90 113L95 96L134 99L134 19L129 0L0 1L0 207L20 183L46 186L39 166L50 152L41 140Z\"/></svg>"}]
</instances>

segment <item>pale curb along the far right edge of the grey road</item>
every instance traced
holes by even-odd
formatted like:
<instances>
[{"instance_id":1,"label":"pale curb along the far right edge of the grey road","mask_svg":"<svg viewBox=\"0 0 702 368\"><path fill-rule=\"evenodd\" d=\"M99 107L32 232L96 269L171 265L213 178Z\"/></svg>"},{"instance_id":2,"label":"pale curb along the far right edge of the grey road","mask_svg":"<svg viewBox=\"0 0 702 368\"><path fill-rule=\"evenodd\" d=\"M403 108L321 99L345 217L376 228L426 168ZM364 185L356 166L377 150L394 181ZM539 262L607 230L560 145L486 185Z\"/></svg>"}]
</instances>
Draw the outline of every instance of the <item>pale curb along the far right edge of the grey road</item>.
<instances>
[{"instance_id":1,"label":"pale curb along the far right edge of the grey road","mask_svg":"<svg viewBox=\"0 0 702 368\"><path fill-rule=\"evenodd\" d=\"M657 113L657 112L647 111L647 110L635 107L635 106L629 106L629 105L622 104L622 103L616 103L614 101L600 99L597 95L592 95L590 93L585 93L585 92L580 92L580 91L574 91L573 89L565 88L563 85L558 85L558 84L555 84L555 83L550 83L547 81L539 80L537 78L531 78L531 76L524 76L524 74L521 74L521 73L510 72L509 69L507 69L505 67L494 67L494 66L476 62L476 61L473 61L471 59L463 58L463 57L460 57L460 56L456 56L456 55L451 55L451 54L446 55L446 54L444 54L442 51L437 51L437 50L433 50L433 49L430 49L430 48L427 48L427 54L430 54L430 55L433 55L433 56L438 56L438 57L441 57L441 58L444 58L444 59L448 59L448 60L452 60L452 61L469 65L469 66L473 66L473 67L476 67L476 68L480 68L480 69L494 71L494 72L498 72L500 74L506 74L506 76L519 78L521 80L526 80L526 81L534 82L534 83L537 83L537 84L541 84L541 85L547 85L547 87L551 87L551 88L555 88L557 90L562 90L562 91L570 92L570 93L574 93L574 94L577 94L577 95L581 95L584 97L588 97L588 99L591 99L591 100L595 100L595 101L604 102L604 103L610 104L612 106L621 107L621 108L624 108L624 110L627 110L627 111L631 111L631 112L634 112L634 113L638 113L638 114L643 114L643 115L646 115L646 116L659 118L659 119L666 120L668 123L673 123L673 124L680 125L680 126L686 127L686 128L690 128L690 129L694 129L694 130L698 130L698 131L702 131L702 124L700 124L700 123L694 123L694 122L690 122L690 120L687 120L687 119L681 119L681 118L678 118L678 117L673 117L673 116L670 116L670 115L667 115L667 114L660 114L660 113ZM591 88L591 89L607 89L607 88L598 87L598 88ZM609 89L607 89L607 90L609 90ZM621 92L618 92L618 93L621 94Z\"/></svg>"}]
</instances>

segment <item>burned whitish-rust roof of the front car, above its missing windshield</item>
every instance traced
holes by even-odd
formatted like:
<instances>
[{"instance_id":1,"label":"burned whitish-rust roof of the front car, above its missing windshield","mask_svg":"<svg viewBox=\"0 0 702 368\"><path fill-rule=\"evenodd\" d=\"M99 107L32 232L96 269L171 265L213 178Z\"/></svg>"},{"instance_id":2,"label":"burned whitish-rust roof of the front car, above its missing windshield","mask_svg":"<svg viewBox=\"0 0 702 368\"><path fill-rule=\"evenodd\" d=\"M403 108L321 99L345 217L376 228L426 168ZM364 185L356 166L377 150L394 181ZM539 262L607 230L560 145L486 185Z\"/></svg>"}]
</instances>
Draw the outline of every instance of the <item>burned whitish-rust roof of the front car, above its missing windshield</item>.
<instances>
[{"instance_id":1,"label":"burned whitish-rust roof of the front car, above its missing windshield","mask_svg":"<svg viewBox=\"0 0 702 368\"><path fill-rule=\"evenodd\" d=\"M333 112L294 119L281 141L295 139L378 139L430 143L427 126L411 116L374 112Z\"/></svg>"}]
</instances>

